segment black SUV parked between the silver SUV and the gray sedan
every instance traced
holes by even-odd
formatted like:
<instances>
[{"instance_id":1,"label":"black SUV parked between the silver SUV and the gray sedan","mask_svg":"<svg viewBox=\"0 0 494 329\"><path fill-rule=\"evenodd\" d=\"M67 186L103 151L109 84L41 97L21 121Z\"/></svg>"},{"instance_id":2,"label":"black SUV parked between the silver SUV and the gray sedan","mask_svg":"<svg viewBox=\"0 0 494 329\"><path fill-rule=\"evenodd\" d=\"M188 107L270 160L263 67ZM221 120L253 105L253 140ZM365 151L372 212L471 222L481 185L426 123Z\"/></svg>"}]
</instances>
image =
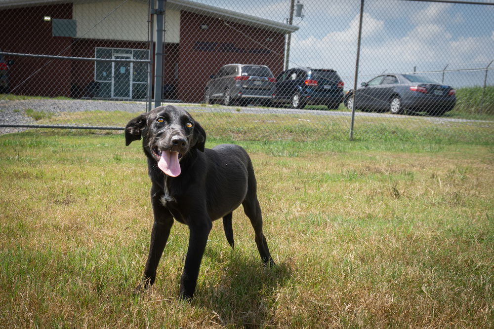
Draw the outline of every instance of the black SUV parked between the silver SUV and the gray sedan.
<instances>
[{"instance_id":1,"label":"black SUV parked between the silver SUV and the gray sedan","mask_svg":"<svg viewBox=\"0 0 494 329\"><path fill-rule=\"evenodd\" d=\"M335 110L343 102L343 86L344 82L334 70L293 68L276 78L271 102L273 105L290 103L294 109L312 104Z\"/></svg>"}]
</instances>

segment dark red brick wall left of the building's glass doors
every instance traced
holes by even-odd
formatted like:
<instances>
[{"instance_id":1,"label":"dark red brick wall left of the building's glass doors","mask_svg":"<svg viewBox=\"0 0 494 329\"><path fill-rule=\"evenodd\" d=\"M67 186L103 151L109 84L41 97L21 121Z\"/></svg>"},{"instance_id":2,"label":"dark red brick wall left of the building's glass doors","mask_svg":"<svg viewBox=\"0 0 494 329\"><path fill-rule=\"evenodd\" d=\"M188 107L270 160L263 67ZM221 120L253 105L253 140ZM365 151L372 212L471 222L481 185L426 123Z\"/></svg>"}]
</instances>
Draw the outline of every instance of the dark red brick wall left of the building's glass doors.
<instances>
[{"instance_id":1,"label":"dark red brick wall left of the building's glass doors","mask_svg":"<svg viewBox=\"0 0 494 329\"><path fill-rule=\"evenodd\" d=\"M0 10L0 48L6 52L71 55L70 37L52 37L51 22L43 16L72 19L72 4ZM69 96L71 62L27 57L6 57L12 92L23 95Z\"/></svg>"}]
</instances>

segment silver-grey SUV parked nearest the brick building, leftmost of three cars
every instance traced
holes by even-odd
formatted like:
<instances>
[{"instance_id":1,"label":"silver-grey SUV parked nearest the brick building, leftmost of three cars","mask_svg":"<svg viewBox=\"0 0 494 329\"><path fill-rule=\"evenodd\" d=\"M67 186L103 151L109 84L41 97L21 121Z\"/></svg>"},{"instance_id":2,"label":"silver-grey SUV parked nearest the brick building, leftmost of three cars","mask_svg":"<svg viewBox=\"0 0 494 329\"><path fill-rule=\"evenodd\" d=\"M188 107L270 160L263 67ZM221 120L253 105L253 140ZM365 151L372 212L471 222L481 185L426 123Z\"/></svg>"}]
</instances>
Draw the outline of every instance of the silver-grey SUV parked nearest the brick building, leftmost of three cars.
<instances>
[{"instance_id":1,"label":"silver-grey SUV parked nearest the brick building, leftmost of three cars","mask_svg":"<svg viewBox=\"0 0 494 329\"><path fill-rule=\"evenodd\" d=\"M234 103L271 102L271 88L276 79L265 65L228 64L210 76L206 84L204 101L206 104L215 102L223 105Z\"/></svg>"}]
</instances>

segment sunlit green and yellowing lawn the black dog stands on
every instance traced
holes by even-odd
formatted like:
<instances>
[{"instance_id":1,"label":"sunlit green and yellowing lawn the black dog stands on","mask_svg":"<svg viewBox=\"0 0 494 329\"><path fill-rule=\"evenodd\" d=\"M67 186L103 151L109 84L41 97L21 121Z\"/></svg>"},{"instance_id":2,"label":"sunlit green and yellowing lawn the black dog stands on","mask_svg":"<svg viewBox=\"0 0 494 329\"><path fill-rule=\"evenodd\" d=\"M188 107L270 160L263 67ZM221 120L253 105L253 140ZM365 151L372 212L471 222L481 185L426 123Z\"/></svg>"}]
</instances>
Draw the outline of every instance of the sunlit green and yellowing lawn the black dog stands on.
<instances>
[{"instance_id":1,"label":"sunlit green and yellowing lawn the black dog stands on","mask_svg":"<svg viewBox=\"0 0 494 329\"><path fill-rule=\"evenodd\" d=\"M179 223L153 289L131 293L152 225L139 142L0 136L1 327L493 326L492 140L396 141L377 129L385 138L349 142L277 124L290 140L213 131L206 144L233 140L251 154L277 266L263 268L237 210L236 249L214 222L190 303L177 299Z\"/></svg>"}]
</instances>

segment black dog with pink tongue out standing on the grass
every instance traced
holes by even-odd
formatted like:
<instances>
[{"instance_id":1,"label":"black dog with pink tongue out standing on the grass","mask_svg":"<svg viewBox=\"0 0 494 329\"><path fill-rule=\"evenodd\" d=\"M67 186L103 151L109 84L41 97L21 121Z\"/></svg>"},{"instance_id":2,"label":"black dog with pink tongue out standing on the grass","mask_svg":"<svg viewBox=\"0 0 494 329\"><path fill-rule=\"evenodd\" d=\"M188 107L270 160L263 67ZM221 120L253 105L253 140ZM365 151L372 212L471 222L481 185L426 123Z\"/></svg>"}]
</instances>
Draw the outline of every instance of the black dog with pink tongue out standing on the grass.
<instances>
[{"instance_id":1,"label":"black dog with pink tongue out standing on the grass","mask_svg":"<svg viewBox=\"0 0 494 329\"><path fill-rule=\"evenodd\" d=\"M189 226L189 248L180 279L180 297L191 298L212 221L223 218L234 247L232 212L241 204L255 232L262 261L274 264L262 233L256 180L247 152L236 145L205 149L206 132L185 110L166 106L130 120L125 145L140 140L148 157L154 225L144 276L137 290L152 285L173 218Z\"/></svg>"}]
</instances>

